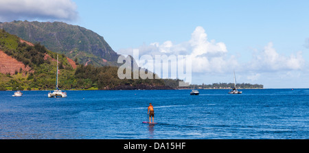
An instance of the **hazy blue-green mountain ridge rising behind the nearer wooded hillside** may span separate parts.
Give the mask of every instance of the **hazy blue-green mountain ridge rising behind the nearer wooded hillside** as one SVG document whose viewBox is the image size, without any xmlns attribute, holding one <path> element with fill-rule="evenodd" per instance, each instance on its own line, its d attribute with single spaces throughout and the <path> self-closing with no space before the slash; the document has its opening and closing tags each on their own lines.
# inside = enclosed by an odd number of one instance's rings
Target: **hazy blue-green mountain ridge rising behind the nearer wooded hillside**
<svg viewBox="0 0 309 153">
<path fill-rule="evenodd" d="M 32 43 L 76 60 L 81 64 L 119 66 L 117 54 L 104 38 L 78 25 L 62 22 L 12 21 L 0 23 L 0 29 Z"/>
</svg>

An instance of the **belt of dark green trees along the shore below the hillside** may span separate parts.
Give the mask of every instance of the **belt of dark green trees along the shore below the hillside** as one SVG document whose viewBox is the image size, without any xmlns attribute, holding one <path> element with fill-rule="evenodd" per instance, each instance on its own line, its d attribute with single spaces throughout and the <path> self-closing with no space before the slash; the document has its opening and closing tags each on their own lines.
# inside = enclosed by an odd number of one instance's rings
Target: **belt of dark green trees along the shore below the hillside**
<svg viewBox="0 0 309 153">
<path fill-rule="evenodd" d="M 56 63 L 54 63 L 54 66 Z M 4 75 L 0 73 L 0 90 L 52 90 L 56 84 L 56 67 L 48 67 L 42 64 L 40 71 L 28 73 L 25 77 L 22 73 L 16 75 Z M 93 65 L 79 65 L 76 70 L 60 69 L 58 86 L 60 89 L 76 90 L 109 90 L 121 85 L 137 86 L 165 86 L 163 80 L 137 80 L 117 77 L 118 67 L 93 67 Z"/>
</svg>

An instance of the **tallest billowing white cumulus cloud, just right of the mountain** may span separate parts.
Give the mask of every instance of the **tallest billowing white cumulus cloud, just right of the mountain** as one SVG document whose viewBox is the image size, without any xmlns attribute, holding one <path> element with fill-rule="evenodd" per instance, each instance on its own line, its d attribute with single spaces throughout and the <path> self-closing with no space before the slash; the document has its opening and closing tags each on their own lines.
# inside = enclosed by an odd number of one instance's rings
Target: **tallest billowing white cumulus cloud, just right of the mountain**
<svg viewBox="0 0 309 153">
<path fill-rule="evenodd" d="M 138 47 L 139 55 L 189 55 L 193 73 L 222 73 L 238 66 L 235 56 L 227 56 L 225 43 L 208 40 L 203 27 L 198 26 L 192 32 L 191 39 L 179 44 L 168 40 L 164 43 L 150 43 Z M 119 54 L 132 55 L 133 49 L 120 49 Z"/>
</svg>

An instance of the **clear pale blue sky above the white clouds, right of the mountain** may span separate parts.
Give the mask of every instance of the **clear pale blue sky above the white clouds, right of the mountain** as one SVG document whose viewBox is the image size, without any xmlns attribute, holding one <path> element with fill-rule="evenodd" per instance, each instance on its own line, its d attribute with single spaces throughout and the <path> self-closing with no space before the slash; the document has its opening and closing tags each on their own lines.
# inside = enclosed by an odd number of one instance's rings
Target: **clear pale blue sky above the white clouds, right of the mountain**
<svg viewBox="0 0 309 153">
<path fill-rule="evenodd" d="M 231 51 L 269 41 L 304 45 L 308 38 L 308 1 L 75 2 L 76 24 L 102 34 L 115 50 L 165 40 L 181 43 L 196 26 L 230 44 Z"/>
</svg>

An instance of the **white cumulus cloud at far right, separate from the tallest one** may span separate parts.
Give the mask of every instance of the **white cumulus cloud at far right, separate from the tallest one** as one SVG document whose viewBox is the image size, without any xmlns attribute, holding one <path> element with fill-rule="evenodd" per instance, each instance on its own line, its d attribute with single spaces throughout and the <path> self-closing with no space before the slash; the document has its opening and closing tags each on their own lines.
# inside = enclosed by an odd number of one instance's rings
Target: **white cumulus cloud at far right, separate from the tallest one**
<svg viewBox="0 0 309 153">
<path fill-rule="evenodd" d="M 247 69 L 255 71 L 280 71 L 280 70 L 299 70 L 304 67 L 305 60 L 302 52 L 289 57 L 278 54 L 273 47 L 273 43 L 268 43 L 262 51 L 257 51 L 253 59 L 247 64 Z"/>
</svg>

